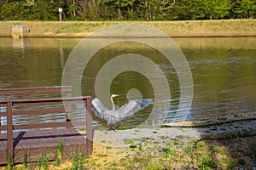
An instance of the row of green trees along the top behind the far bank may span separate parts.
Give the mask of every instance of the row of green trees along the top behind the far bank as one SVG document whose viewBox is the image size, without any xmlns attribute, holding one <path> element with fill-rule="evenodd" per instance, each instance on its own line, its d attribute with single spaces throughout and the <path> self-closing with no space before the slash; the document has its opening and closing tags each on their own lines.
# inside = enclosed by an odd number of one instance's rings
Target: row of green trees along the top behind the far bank
<svg viewBox="0 0 256 170">
<path fill-rule="evenodd" d="M 220 20 L 256 18 L 256 0 L 0 0 L 0 20 Z"/>
</svg>

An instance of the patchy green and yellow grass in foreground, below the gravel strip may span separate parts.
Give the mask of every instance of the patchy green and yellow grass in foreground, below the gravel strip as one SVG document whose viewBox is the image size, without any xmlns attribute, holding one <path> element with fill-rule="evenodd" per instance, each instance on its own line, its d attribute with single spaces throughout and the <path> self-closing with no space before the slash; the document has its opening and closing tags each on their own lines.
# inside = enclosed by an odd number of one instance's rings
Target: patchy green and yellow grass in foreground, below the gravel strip
<svg viewBox="0 0 256 170">
<path fill-rule="evenodd" d="M 113 148 L 95 144 L 92 156 L 73 153 L 60 166 L 55 161 L 45 161 L 42 166 L 38 161 L 16 165 L 15 169 L 253 169 L 252 156 L 256 153 L 255 137 L 197 140 L 178 136 L 124 142 L 130 146 Z"/>
</svg>

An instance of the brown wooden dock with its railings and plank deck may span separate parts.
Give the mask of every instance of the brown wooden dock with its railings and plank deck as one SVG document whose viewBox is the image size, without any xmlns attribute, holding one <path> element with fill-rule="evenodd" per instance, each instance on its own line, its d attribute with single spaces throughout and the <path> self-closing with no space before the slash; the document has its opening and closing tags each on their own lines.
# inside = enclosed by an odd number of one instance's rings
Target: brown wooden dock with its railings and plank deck
<svg viewBox="0 0 256 170">
<path fill-rule="evenodd" d="M 58 141 L 63 141 L 63 158 L 71 157 L 73 152 L 86 155 L 92 153 L 92 116 L 91 97 L 71 97 L 71 87 L 9 88 L 0 89 L 0 95 L 8 94 L 47 94 L 67 93 L 67 97 L 28 98 L 0 100 L 1 117 L 6 124 L 0 123 L 0 165 L 7 163 L 9 157 L 13 163 L 39 161 L 44 156 L 48 161 L 55 160 Z M 86 121 L 73 121 L 71 107 L 76 103 L 86 105 Z M 62 107 L 55 107 L 62 105 Z M 46 107 L 47 106 L 47 107 Z M 27 122 L 15 124 L 14 116 L 43 116 L 65 113 L 64 122 Z M 73 127 L 85 126 L 86 138 Z"/>
</svg>

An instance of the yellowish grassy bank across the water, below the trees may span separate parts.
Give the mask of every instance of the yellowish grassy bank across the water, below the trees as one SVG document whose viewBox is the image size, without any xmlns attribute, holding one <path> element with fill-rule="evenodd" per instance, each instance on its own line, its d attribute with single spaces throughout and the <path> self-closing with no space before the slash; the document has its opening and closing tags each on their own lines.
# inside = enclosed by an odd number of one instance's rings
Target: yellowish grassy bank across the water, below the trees
<svg viewBox="0 0 256 170">
<path fill-rule="evenodd" d="M 189 21 L 1 21 L 0 36 L 10 37 L 15 25 L 29 26 L 29 37 L 85 37 L 105 26 L 137 23 L 153 26 L 170 37 L 256 36 L 256 20 Z"/>
</svg>

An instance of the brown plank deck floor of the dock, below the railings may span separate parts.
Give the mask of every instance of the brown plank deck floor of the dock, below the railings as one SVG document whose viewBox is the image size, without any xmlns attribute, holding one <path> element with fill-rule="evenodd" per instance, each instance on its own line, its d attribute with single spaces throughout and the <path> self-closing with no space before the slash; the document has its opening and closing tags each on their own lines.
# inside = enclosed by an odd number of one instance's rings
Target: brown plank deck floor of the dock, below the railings
<svg viewBox="0 0 256 170">
<path fill-rule="evenodd" d="M 86 138 L 73 128 L 45 129 L 14 133 L 14 162 L 39 161 L 41 156 L 53 161 L 59 139 L 63 140 L 62 157 L 71 157 L 73 152 L 87 154 Z M 6 164 L 7 133 L 0 134 L 0 165 Z"/>
</svg>

